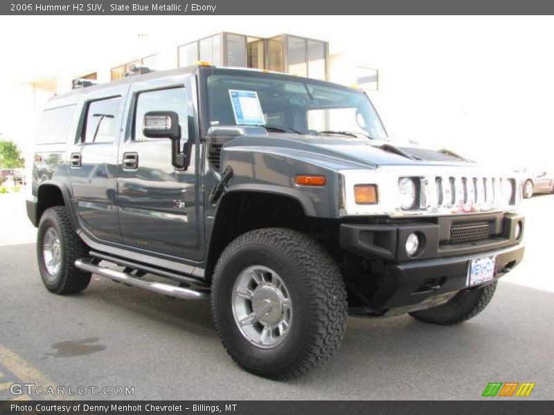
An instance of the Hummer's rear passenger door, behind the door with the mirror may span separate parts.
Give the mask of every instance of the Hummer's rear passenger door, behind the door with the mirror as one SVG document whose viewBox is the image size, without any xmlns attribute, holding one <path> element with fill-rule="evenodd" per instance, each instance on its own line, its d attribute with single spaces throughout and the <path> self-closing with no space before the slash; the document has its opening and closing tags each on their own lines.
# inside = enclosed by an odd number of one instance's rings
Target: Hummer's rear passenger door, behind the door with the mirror
<svg viewBox="0 0 554 415">
<path fill-rule="evenodd" d="M 116 173 L 128 90 L 127 84 L 83 94 L 69 160 L 73 202 L 82 227 L 104 241 L 121 241 Z"/>
</svg>

